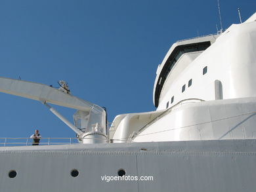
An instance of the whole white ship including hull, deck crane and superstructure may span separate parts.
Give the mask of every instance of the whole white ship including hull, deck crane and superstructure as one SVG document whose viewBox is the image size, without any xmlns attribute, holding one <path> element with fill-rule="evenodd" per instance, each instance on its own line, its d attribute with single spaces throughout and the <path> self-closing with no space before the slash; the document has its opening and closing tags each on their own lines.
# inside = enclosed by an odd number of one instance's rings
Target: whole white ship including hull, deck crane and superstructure
<svg viewBox="0 0 256 192">
<path fill-rule="evenodd" d="M 77 144 L 0 147 L 0 191 L 255 191 L 256 13 L 174 43 L 156 66 L 156 111 L 117 115 L 60 88 L 0 77 L 41 102 Z M 77 111 L 71 123 L 52 106 Z"/>
</svg>

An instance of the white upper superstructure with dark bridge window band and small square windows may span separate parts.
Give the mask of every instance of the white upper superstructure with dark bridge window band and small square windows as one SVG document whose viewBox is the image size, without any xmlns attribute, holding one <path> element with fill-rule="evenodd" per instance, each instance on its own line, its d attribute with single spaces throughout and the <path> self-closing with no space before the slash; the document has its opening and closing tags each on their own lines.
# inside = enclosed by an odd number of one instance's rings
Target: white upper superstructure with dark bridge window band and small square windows
<svg viewBox="0 0 256 192">
<path fill-rule="evenodd" d="M 217 35 L 173 44 L 158 66 L 153 100 L 158 110 L 182 100 L 256 96 L 256 16 Z"/>
</svg>

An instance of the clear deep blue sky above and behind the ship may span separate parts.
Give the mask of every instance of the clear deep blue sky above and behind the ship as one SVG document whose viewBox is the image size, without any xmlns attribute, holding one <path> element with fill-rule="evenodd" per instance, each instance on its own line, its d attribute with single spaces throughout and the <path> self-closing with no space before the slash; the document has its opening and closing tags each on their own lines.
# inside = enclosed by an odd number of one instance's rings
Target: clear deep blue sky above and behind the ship
<svg viewBox="0 0 256 192">
<path fill-rule="evenodd" d="M 223 28 L 255 0 L 219 0 Z M 154 111 L 156 68 L 175 41 L 216 33 L 217 0 L 0 1 L 0 76 L 57 86 L 121 113 Z M 74 137 L 39 102 L 0 94 L 0 137 Z M 56 107 L 70 121 L 73 109 Z"/>
</svg>

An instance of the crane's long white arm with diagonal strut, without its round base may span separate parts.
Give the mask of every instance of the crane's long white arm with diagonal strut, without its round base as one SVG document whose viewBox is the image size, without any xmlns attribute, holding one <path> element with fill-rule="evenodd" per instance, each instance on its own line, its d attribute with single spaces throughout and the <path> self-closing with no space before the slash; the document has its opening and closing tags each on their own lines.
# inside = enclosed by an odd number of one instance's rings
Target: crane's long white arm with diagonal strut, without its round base
<svg viewBox="0 0 256 192">
<path fill-rule="evenodd" d="M 29 81 L 22 81 L 17 79 L 9 79 L 0 77 L 0 92 L 28 98 L 31 100 L 37 100 L 43 104 L 55 104 L 58 106 L 69 107 L 77 109 L 78 111 L 85 111 L 89 114 L 89 119 L 85 120 L 84 124 L 87 128 L 92 128 L 95 125 L 99 125 L 103 132 L 106 133 L 106 111 L 91 102 L 81 100 L 72 94 L 63 92 L 48 85 L 41 83 L 33 83 Z M 75 126 L 71 125 L 64 117 L 62 117 L 56 110 L 49 105 L 46 105 L 49 109 L 59 117 L 66 125 L 70 126 L 72 130 L 81 134 L 79 128 L 75 129 Z"/>
</svg>

